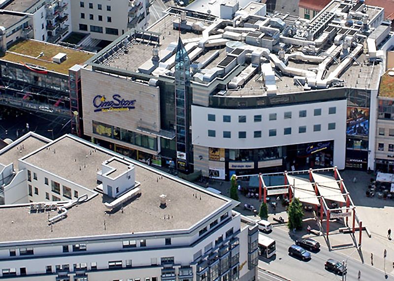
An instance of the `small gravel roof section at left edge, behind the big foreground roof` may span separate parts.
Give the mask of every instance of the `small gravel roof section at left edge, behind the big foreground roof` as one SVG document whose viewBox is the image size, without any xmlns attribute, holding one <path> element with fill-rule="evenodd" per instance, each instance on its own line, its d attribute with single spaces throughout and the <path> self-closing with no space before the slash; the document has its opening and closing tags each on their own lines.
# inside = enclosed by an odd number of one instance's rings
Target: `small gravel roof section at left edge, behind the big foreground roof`
<svg viewBox="0 0 394 281">
<path fill-rule="evenodd" d="M 20 137 L 19 140 L 9 144 L 0 150 L 0 163 L 3 165 L 14 164 L 14 169 L 18 170 L 18 159 L 31 154 L 49 142 L 40 139 L 32 134 Z"/>
</svg>

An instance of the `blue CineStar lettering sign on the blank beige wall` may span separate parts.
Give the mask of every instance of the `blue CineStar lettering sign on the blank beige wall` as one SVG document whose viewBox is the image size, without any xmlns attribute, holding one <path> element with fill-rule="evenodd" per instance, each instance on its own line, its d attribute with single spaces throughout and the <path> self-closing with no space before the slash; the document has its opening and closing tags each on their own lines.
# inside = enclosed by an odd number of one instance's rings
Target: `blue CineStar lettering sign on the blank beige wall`
<svg viewBox="0 0 394 281">
<path fill-rule="evenodd" d="M 120 94 L 112 95 L 112 99 L 107 99 L 105 95 L 96 95 L 93 98 L 95 112 L 127 111 L 135 108 L 135 99 L 124 99 Z"/>
</svg>

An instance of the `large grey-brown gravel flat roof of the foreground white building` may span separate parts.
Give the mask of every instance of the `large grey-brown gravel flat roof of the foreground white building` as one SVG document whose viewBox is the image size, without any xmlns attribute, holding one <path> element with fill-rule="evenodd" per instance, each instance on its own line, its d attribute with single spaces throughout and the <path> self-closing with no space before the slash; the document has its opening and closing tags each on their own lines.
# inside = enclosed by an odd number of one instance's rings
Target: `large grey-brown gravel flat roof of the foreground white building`
<svg viewBox="0 0 394 281">
<path fill-rule="evenodd" d="M 97 185 L 96 172 L 100 169 L 102 160 L 116 156 L 102 148 L 97 148 L 91 156 L 90 152 L 94 148 L 88 142 L 67 135 L 26 157 L 25 161 L 92 187 L 93 181 Z M 56 153 L 53 152 L 55 149 Z M 86 155 L 87 167 L 79 171 L 78 164 Z M 78 157 L 77 164 L 74 157 Z M 105 213 L 108 209 L 103 202 L 113 199 L 98 194 L 69 209 L 65 219 L 53 224 L 51 232 L 48 212 L 30 214 L 29 207 L 0 208 L 0 224 L 6 226 L 0 229 L 0 242 L 188 229 L 230 202 L 230 199 L 209 193 L 201 187 L 139 162 L 127 160 L 134 165 L 135 181 L 141 183 L 138 187 L 141 188 L 142 195 L 125 205 L 123 212 L 108 216 Z M 160 208 L 161 194 L 167 196 L 164 209 Z M 56 214 L 56 211 L 50 212 L 49 216 L 54 217 Z"/>
</svg>

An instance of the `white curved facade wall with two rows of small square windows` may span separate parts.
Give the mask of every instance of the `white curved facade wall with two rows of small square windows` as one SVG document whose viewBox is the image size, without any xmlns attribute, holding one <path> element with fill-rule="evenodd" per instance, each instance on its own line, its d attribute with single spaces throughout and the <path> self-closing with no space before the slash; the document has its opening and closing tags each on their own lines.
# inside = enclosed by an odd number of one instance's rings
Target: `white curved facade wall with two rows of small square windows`
<svg viewBox="0 0 394 281">
<path fill-rule="evenodd" d="M 335 114 L 328 114 L 329 107 L 336 107 Z M 321 109 L 320 116 L 314 116 L 314 109 Z M 306 110 L 307 116 L 299 117 L 299 111 Z M 292 112 L 291 119 L 284 119 L 285 112 Z M 269 121 L 269 114 L 276 113 L 276 120 Z M 208 121 L 208 114 L 214 114 L 216 121 Z M 230 115 L 231 122 L 224 123 L 223 116 Z M 245 115 L 246 123 L 238 123 L 238 116 Z M 262 122 L 254 122 L 255 115 L 262 115 Z M 335 129 L 328 130 L 328 123 L 335 123 Z M 320 124 L 320 131 L 313 131 L 313 125 Z M 298 133 L 299 126 L 306 126 L 306 133 Z M 292 133 L 284 135 L 284 128 L 291 127 Z M 276 129 L 276 136 L 268 136 L 270 129 Z M 216 137 L 209 137 L 208 130 L 215 130 Z M 254 138 L 254 131 L 262 131 L 261 138 Z M 223 138 L 223 131 L 230 131 L 231 138 Z M 238 138 L 239 131 L 246 131 L 246 138 Z M 253 149 L 319 141 L 334 141 L 334 165 L 345 167 L 346 150 L 346 100 L 334 100 L 307 104 L 292 104 L 271 108 L 229 109 L 192 105 L 193 145 L 228 149 Z"/>
</svg>

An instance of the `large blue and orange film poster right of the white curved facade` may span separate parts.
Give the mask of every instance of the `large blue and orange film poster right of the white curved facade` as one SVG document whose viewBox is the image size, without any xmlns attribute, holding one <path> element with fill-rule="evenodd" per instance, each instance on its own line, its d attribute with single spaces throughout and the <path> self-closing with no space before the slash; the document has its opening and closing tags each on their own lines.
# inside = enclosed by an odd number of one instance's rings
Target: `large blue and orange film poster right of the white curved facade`
<svg viewBox="0 0 394 281">
<path fill-rule="evenodd" d="M 369 108 L 348 106 L 346 134 L 367 136 L 369 133 Z"/>
</svg>

